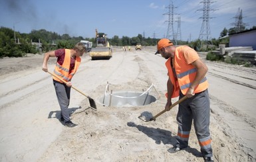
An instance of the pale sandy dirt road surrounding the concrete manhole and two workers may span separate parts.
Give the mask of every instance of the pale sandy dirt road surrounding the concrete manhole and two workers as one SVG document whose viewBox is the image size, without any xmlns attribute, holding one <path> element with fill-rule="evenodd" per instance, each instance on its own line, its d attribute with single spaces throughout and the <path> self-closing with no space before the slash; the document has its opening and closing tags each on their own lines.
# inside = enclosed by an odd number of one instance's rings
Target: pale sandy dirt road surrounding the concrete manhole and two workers
<svg viewBox="0 0 256 162">
<path fill-rule="evenodd" d="M 203 161 L 194 130 L 190 147 L 167 151 L 175 143 L 178 106 L 155 122 L 138 118 L 146 111 L 157 114 L 166 104 L 166 60 L 154 51 L 115 48 L 110 60 L 83 56 L 72 84 L 90 95 L 98 110 L 88 108 L 88 99 L 72 90 L 70 114 L 76 128 L 58 119 L 53 81 L 41 70 L 43 56 L 1 59 L 0 161 Z M 204 61 L 215 161 L 255 161 L 256 69 Z M 49 63 L 53 70 L 55 59 Z M 142 91 L 153 83 L 160 99 L 146 106 L 103 106 L 99 100 L 107 82 L 113 91 Z"/>
</svg>

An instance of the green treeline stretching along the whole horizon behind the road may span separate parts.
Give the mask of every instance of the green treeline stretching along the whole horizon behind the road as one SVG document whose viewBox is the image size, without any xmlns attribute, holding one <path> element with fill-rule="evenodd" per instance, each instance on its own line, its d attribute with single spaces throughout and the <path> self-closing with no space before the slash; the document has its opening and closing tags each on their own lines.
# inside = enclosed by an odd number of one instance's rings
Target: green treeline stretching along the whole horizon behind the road
<svg viewBox="0 0 256 162">
<path fill-rule="evenodd" d="M 255 28 L 255 26 L 253 26 Z M 232 32 L 232 28 L 227 30 L 226 28 L 220 34 L 225 36 Z M 25 54 L 37 54 L 47 52 L 49 50 L 56 50 L 59 48 L 73 48 L 74 44 L 80 42 L 80 40 L 88 40 L 93 42 L 95 46 L 95 38 L 83 38 L 82 36 L 71 37 L 68 34 L 60 35 L 57 32 L 49 32 L 45 29 L 32 30 L 29 34 L 15 32 L 11 28 L 1 27 L 0 28 L 0 58 L 3 57 L 22 57 Z M 110 45 L 112 46 L 135 46 L 141 44 L 142 46 L 156 46 L 158 38 L 144 38 L 142 34 L 134 36 L 132 38 L 128 36 L 113 36 L 108 38 Z M 219 44 L 228 44 L 229 38 L 215 39 L 213 38 L 209 42 L 204 42 L 207 46 L 202 46 L 201 40 L 188 41 L 177 41 L 175 44 L 187 44 L 193 49 L 199 51 L 207 51 L 214 49 Z M 40 43 L 40 44 L 39 44 Z M 211 44 L 208 46 L 208 44 Z"/>
</svg>

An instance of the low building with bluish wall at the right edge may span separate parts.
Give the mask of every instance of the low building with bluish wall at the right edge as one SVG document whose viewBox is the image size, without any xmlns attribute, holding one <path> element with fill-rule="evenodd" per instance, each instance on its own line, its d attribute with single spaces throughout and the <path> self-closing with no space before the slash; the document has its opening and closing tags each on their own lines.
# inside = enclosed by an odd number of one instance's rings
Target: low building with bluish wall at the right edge
<svg viewBox="0 0 256 162">
<path fill-rule="evenodd" d="M 256 28 L 229 34 L 229 47 L 251 46 L 256 50 Z"/>
</svg>

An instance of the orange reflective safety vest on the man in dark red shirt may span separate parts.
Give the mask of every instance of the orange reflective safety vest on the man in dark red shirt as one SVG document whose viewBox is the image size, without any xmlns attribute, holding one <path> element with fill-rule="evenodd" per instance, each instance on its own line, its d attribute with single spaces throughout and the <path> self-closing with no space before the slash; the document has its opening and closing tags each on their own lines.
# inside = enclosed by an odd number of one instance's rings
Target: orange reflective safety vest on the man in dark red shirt
<svg viewBox="0 0 256 162">
<path fill-rule="evenodd" d="M 76 71 L 80 65 L 80 62 L 81 62 L 81 58 L 76 56 L 76 61 L 74 63 L 74 69 L 72 69 L 71 72 L 69 73 L 70 60 L 71 60 L 70 50 L 65 49 L 65 58 L 63 61 L 63 65 L 60 65 L 57 61 L 56 65 L 55 65 L 55 70 L 53 71 L 55 73 L 55 75 L 63 78 L 64 81 L 71 81 L 72 77 L 74 76 L 74 73 L 76 73 Z M 61 81 L 57 77 L 53 76 L 53 79 L 55 79 L 55 81 L 59 81 L 59 82 L 63 83 L 63 81 Z"/>
</svg>

